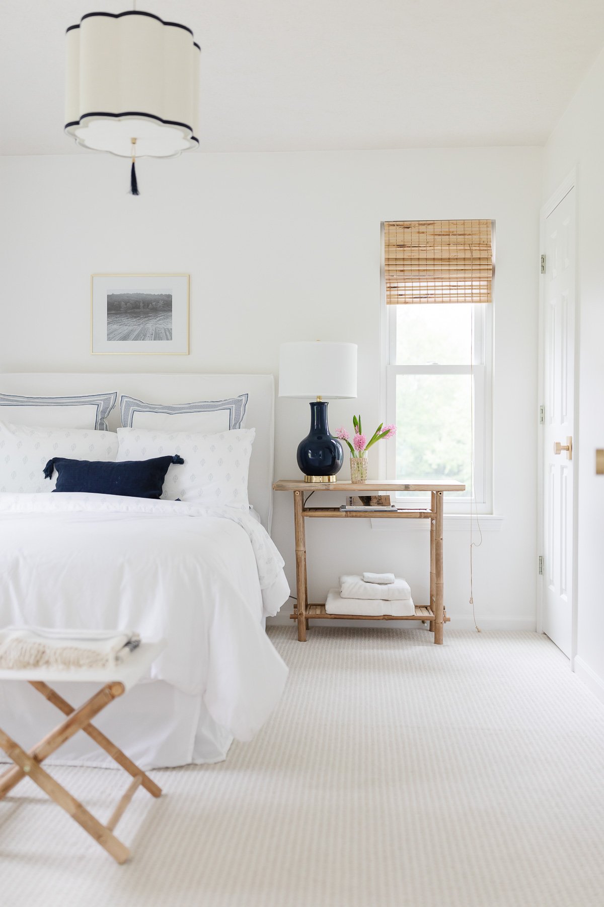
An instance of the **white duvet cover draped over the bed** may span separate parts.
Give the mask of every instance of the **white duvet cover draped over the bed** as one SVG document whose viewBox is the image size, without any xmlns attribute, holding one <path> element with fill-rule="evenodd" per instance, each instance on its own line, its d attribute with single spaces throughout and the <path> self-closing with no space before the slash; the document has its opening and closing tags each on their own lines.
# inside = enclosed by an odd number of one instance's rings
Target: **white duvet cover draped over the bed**
<svg viewBox="0 0 604 907">
<path fill-rule="evenodd" d="M 163 637 L 152 677 L 198 697 L 225 736 L 251 739 L 281 696 L 287 668 L 261 617 L 288 594 L 279 552 L 245 513 L 104 494 L 0 494 L 0 626 Z M 197 730 L 187 730 L 191 740 Z"/>
</svg>

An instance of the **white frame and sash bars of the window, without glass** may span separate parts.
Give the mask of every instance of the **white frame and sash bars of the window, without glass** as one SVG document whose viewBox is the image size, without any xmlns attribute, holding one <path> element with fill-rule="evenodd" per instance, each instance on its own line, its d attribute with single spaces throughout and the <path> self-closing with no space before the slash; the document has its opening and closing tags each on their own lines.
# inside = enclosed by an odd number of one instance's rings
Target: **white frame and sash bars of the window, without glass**
<svg viewBox="0 0 604 907">
<path fill-rule="evenodd" d="M 383 232 L 383 227 L 382 227 Z M 383 244 L 382 244 L 383 249 Z M 383 261 L 383 251 L 382 251 Z M 439 303 L 435 303 L 439 305 Z M 444 305 L 444 304 L 443 304 Z M 470 305 L 470 303 L 468 303 Z M 386 305 L 382 268 L 382 405 L 387 423 L 397 421 L 397 375 L 474 375 L 474 495 L 471 498 L 445 497 L 447 513 L 493 513 L 493 304 L 471 304 L 474 317 L 474 363 L 472 366 L 398 366 L 397 306 Z M 396 475 L 396 444 L 380 443 L 379 476 Z M 421 476 L 409 476 L 421 478 Z M 408 509 L 429 507 L 428 498 L 397 495 L 398 506 Z"/>
</svg>

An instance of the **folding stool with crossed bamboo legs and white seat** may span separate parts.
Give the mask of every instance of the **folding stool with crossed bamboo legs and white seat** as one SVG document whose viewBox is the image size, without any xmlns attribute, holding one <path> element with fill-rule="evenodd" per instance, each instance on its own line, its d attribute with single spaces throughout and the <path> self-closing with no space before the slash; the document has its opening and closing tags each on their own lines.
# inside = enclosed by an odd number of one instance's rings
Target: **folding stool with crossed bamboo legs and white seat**
<svg viewBox="0 0 604 907">
<path fill-rule="evenodd" d="M 139 681 L 163 648 L 163 642 L 142 643 L 139 649 L 136 649 L 122 665 L 117 668 L 103 670 L 51 671 L 45 668 L 0 670 L 0 680 L 26 681 L 66 716 L 60 725 L 55 727 L 50 734 L 44 736 L 29 752 L 25 752 L 21 746 L 15 743 L 0 728 L 0 748 L 14 762 L 14 766 L 5 771 L 3 775 L 0 775 L 0 801 L 4 799 L 15 785 L 23 781 L 25 775 L 28 775 L 34 784 L 41 787 L 45 794 L 57 805 L 61 806 L 66 813 L 70 814 L 72 819 L 81 825 L 84 831 L 88 832 L 98 844 L 101 844 L 101 847 L 104 847 L 114 860 L 118 863 L 125 863 L 129 858 L 130 852 L 128 847 L 122 844 L 119 838 L 113 834 L 115 826 L 120 821 L 139 786 L 144 787 L 151 796 L 155 797 L 161 796 L 161 788 L 154 781 L 151 781 L 149 775 L 146 775 L 139 766 L 135 765 L 125 753 L 122 753 L 118 746 L 111 743 L 110 739 L 102 734 L 98 727 L 92 725 L 91 721 L 113 699 L 123 696 L 129 688 Z M 49 686 L 49 683 L 60 681 L 68 681 L 69 683 L 101 683 L 103 686 L 79 708 L 73 708 Z M 129 787 L 121 796 L 109 821 L 105 824 L 102 824 L 89 813 L 69 791 L 54 780 L 52 775 L 44 771 L 41 765 L 44 759 L 52 756 L 62 744 L 66 743 L 78 731 L 83 731 L 84 734 L 90 736 L 132 778 Z"/>
</svg>

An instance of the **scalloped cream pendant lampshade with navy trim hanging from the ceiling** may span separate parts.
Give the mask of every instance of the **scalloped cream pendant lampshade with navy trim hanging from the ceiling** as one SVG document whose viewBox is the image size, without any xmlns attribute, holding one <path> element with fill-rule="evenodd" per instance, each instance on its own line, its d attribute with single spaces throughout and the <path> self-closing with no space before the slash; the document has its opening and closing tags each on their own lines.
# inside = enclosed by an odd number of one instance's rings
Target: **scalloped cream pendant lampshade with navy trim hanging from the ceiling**
<svg viewBox="0 0 604 907">
<path fill-rule="evenodd" d="M 67 29 L 65 132 L 122 157 L 197 148 L 199 45 L 187 26 L 130 10 Z"/>
</svg>

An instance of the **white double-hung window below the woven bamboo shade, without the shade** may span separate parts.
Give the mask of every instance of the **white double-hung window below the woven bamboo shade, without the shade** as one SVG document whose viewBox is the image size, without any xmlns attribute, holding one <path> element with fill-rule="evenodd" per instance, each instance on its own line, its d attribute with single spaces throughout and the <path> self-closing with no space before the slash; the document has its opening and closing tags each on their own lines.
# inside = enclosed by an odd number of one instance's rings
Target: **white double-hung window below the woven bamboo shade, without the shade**
<svg viewBox="0 0 604 907">
<path fill-rule="evenodd" d="M 436 285 L 436 293 L 447 299 L 445 304 L 422 301 L 385 306 L 387 421 L 397 425 L 397 436 L 394 443 L 384 444 L 382 466 L 398 479 L 457 479 L 465 483 L 465 492 L 446 495 L 448 512 L 468 512 L 470 502 L 478 512 L 491 512 L 492 306 L 448 301 L 464 298 L 458 278 L 457 274 L 454 292 L 448 276 L 430 284 L 431 297 Z M 422 279 L 424 293 L 425 274 Z M 390 292 L 392 283 L 390 279 Z M 399 260 L 395 291 L 408 297 L 412 289 L 402 284 Z M 388 273 L 385 285 L 386 293 Z M 490 284 L 488 293 L 490 298 Z M 468 296 L 472 298 L 472 292 Z M 398 502 L 423 503 L 419 494 L 410 492 L 400 493 Z"/>
</svg>

